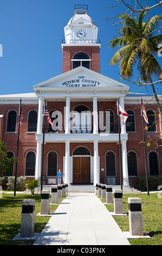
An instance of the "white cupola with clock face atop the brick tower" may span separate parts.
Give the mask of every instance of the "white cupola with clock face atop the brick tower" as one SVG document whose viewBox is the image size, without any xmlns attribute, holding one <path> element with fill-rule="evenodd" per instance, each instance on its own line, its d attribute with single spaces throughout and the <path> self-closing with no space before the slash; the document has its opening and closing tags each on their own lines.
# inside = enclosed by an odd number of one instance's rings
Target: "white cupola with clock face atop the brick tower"
<svg viewBox="0 0 162 256">
<path fill-rule="evenodd" d="M 98 43 L 98 27 L 88 16 L 88 5 L 75 4 L 74 16 L 64 27 L 66 44 L 96 44 Z"/>
</svg>

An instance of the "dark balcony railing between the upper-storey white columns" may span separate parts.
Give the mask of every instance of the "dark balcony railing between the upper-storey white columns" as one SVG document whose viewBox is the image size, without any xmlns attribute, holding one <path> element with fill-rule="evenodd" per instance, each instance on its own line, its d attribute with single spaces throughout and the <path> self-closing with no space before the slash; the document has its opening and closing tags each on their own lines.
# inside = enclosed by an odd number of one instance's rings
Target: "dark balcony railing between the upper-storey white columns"
<svg viewBox="0 0 162 256">
<path fill-rule="evenodd" d="M 53 130 L 53 128 L 49 125 L 44 126 L 44 132 L 45 133 L 65 133 L 65 126 L 62 125 L 61 127 L 57 126 L 56 130 Z M 121 131 L 121 129 L 120 129 Z M 43 132 L 43 127 L 42 127 Z M 119 127 L 118 125 L 110 125 L 109 130 L 106 130 L 105 126 L 98 126 L 98 132 L 99 133 L 119 133 Z M 80 134 L 80 133 L 93 133 L 93 125 L 73 125 L 70 126 L 70 133 L 73 134 Z"/>
</svg>

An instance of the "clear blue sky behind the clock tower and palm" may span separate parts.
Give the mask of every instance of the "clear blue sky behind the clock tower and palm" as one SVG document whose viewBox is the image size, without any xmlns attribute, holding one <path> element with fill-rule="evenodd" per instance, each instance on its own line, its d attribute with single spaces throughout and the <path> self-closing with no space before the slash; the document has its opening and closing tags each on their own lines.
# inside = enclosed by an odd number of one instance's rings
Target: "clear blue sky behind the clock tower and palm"
<svg viewBox="0 0 162 256">
<path fill-rule="evenodd" d="M 154 2 L 147 1 L 152 5 Z M 110 66 L 114 51 L 108 42 L 116 31 L 114 20 L 103 21 L 125 11 L 115 0 L 87 0 L 88 15 L 99 27 L 98 39 L 101 40 L 101 74 L 120 81 L 119 66 Z M 74 5 L 81 1 L 59 0 L 1 0 L 0 8 L 0 44 L 3 57 L 0 57 L 0 95 L 32 93 L 33 86 L 62 73 L 61 40 L 64 39 L 64 26 L 74 15 Z M 161 14 L 159 8 L 155 9 Z M 155 13 L 157 13 L 155 12 Z M 162 57 L 157 57 L 160 65 Z M 134 79 L 138 79 L 134 71 Z M 139 87 L 131 86 L 130 92 L 137 92 Z M 152 93 L 147 88 L 147 93 Z M 146 93 L 146 90 L 142 90 Z M 159 89 L 162 94 L 162 89 Z"/>
</svg>

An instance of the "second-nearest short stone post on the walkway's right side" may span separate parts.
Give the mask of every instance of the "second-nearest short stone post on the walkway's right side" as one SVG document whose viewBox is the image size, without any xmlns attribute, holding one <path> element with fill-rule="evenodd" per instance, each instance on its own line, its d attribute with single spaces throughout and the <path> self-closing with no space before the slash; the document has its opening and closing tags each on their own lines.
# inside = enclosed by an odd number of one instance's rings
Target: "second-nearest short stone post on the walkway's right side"
<svg viewBox="0 0 162 256">
<path fill-rule="evenodd" d="M 123 214 L 122 190 L 114 190 L 114 213 Z"/>
</svg>

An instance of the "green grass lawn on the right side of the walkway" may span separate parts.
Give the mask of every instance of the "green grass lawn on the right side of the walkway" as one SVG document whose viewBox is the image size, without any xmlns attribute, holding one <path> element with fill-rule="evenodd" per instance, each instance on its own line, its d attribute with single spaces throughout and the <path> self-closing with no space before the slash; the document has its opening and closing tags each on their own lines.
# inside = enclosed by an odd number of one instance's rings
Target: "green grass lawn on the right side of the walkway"
<svg viewBox="0 0 162 256">
<path fill-rule="evenodd" d="M 130 239 L 131 245 L 162 245 L 162 198 L 158 198 L 157 193 L 137 193 L 137 194 L 123 194 L 123 211 L 127 216 L 113 216 L 116 223 L 122 231 L 129 231 L 128 220 L 128 198 L 138 197 L 141 198 L 142 204 L 142 219 L 144 231 L 151 236 L 151 239 Z M 101 197 L 99 197 L 101 198 Z M 106 199 L 101 199 L 103 203 L 106 203 Z M 114 212 L 114 205 L 105 204 L 106 208 L 110 212 Z"/>
</svg>

